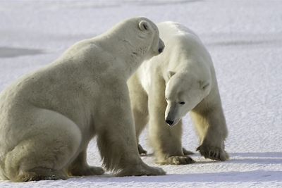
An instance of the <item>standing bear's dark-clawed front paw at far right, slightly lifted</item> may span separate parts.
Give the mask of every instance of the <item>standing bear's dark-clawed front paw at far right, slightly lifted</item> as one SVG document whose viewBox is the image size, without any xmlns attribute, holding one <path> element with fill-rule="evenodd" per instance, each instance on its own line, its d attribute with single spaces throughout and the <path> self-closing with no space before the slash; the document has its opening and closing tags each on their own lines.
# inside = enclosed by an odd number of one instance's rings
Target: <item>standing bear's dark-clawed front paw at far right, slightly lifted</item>
<svg viewBox="0 0 282 188">
<path fill-rule="evenodd" d="M 216 146 L 202 144 L 196 151 L 200 151 L 204 158 L 210 158 L 216 161 L 226 161 L 229 158 L 228 153 L 224 149 Z"/>
</svg>

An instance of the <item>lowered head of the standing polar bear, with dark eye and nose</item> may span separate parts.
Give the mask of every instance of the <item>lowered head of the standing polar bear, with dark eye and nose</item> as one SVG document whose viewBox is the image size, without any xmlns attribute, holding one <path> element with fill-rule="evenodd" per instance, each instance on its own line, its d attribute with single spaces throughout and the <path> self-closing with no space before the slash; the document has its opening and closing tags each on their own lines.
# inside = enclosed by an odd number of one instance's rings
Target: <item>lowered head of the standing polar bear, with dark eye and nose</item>
<svg viewBox="0 0 282 188">
<path fill-rule="evenodd" d="M 195 73 L 169 71 L 168 78 L 165 91 L 167 102 L 165 120 L 172 126 L 209 94 L 211 83 Z"/>
</svg>

